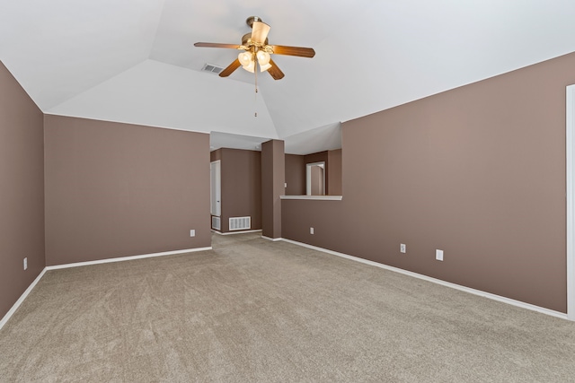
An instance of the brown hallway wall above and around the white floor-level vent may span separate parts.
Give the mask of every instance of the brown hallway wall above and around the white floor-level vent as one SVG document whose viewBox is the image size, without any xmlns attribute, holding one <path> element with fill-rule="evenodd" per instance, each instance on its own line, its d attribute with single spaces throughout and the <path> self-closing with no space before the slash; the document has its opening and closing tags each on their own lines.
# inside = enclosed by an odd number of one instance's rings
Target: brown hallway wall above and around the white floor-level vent
<svg viewBox="0 0 575 383">
<path fill-rule="evenodd" d="M 218 152 L 222 161 L 222 232 L 229 231 L 230 217 L 251 216 L 252 230 L 261 229 L 261 152 L 227 148 Z"/>
</svg>

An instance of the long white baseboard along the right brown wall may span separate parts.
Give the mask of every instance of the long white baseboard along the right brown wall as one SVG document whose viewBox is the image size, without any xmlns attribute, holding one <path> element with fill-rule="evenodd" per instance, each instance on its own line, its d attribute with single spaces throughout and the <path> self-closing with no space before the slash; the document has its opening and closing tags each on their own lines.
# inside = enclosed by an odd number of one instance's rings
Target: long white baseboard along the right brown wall
<svg viewBox="0 0 575 383">
<path fill-rule="evenodd" d="M 469 293 L 472 293 L 473 295 L 479 295 L 480 297 L 489 298 L 491 300 L 498 300 L 498 301 L 503 302 L 503 303 L 508 303 L 510 305 L 520 307 L 522 309 L 530 309 L 533 311 L 537 311 L 537 312 L 540 312 L 543 314 L 550 315 L 552 317 L 567 319 L 566 314 L 559 312 L 559 311 L 554 311 L 553 309 L 545 309 L 545 308 L 535 306 L 535 305 L 532 305 L 532 304 L 529 304 L 526 302 L 522 302 L 520 300 L 512 300 L 512 299 L 509 299 L 506 297 L 501 297 L 500 295 L 491 294 L 491 292 L 482 292 L 481 290 L 475 290 L 475 289 L 472 289 L 470 287 L 462 286 L 460 284 L 449 283 L 446 281 L 442 281 L 440 279 L 432 278 L 432 277 L 427 276 L 427 275 L 417 274 L 417 273 L 413 273 L 411 271 L 403 270 L 403 269 L 398 268 L 398 267 L 394 267 L 394 266 L 390 266 L 390 265 L 384 265 L 384 264 L 380 264 L 380 263 L 370 261 L 367 259 L 349 256 L 347 254 L 338 253 L 337 251 L 328 250 L 327 248 L 318 248 L 316 246 L 308 245 L 308 244 L 303 243 L 303 242 L 297 242 L 296 240 L 292 240 L 292 239 L 282 239 L 282 240 L 289 242 L 289 243 L 293 243 L 294 245 L 302 246 L 304 248 L 312 248 L 314 250 L 323 251 L 324 253 L 331 254 L 333 256 L 351 259 L 352 261 L 361 262 L 362 264 L 372 265 L 372 266 L 376 266 L 379 268 L 383 268 L 385 270 L 393 271 L 395 273 L 409 275 L 409 276 L 419 278 L 419 279 L 422 279 L 424 281 L 428 281 L 431 283 L 438 283 L 438 284 L 441 284 L 443 286 L 451 287 L 453 289 L 456 289 L 456 290 L 459 290 L 462 292 L 469 292 Z"/>
</svg>

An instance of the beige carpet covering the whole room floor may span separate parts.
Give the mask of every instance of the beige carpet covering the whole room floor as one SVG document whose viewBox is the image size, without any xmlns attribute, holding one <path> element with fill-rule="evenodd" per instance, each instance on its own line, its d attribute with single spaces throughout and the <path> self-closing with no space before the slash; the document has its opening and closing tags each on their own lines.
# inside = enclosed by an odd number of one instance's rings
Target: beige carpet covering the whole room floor
<svg viewBox="0 0 575 383">
<path fill-rule="evenodd" d="M 47 272 L 0 381 L 575 381 L 573 322 L 259 236 Z"/>
</svg>

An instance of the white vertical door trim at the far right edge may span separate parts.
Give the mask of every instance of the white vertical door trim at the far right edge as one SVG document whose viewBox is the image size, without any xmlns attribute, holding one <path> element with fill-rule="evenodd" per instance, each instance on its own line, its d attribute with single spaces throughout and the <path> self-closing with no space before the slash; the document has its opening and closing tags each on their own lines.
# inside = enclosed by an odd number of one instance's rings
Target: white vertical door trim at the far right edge
<svg viewBox="0 0 575 383">
<path fill-rule="evenodd" d="M 565 170 L 567 208 L 567 318 L 575 321 L 575 85 L 567 87 L 566 126 L 565 126 Z"/>
</svg>

